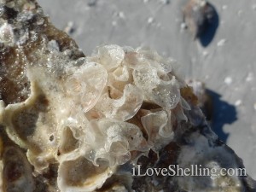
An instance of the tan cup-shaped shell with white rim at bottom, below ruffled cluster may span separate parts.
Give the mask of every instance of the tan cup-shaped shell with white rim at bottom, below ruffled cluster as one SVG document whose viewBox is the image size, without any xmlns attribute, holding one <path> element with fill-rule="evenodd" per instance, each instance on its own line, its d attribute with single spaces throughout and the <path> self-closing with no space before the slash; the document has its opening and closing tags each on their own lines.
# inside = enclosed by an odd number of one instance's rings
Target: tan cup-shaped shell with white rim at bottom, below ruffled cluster
<svg viewBox="0 0 256 192">
<path fill-rule="evenodd" d="M 100 189 L 114 172 L 106 162 L 94 166 L 90 160 L 78 157 L 75 160 L 61 161 L 58 172 L 58 186 L 64 192 L 90 192 Z"/>
</svg>

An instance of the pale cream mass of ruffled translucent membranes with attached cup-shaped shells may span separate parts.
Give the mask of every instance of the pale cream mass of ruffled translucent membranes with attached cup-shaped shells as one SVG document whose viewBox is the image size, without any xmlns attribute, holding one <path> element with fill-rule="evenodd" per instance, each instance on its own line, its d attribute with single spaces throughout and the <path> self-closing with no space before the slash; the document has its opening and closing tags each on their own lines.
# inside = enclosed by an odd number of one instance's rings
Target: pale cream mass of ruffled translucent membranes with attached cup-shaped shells
<svg viewBox="0 0 256 192">
<path fill-rule="evenodd" d="M 29 66 L 31 96 L 3 110 L 9 137 L 27 148 L 37 172 L 60 163 L 61 191 L 97 189 L 116 166 L 136 163 L 150 148 L 158 153 L 172 141 L 173 122 L 185 119 L 189 104 L 172 62 L 150 49 L 105 45 L 66 66 Z M 145 103 L 154 110 L 143 109 Z M 68 170 L 77 166 L 81 174 L 91 167 L 90 174 L 74 177 Z"/>
</svg>

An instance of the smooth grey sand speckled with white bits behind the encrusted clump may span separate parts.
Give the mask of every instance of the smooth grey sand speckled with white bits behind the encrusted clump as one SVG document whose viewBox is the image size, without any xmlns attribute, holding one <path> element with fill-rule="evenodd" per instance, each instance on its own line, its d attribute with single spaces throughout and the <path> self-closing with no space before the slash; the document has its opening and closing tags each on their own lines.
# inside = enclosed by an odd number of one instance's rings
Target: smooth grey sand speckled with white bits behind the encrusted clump
<svg viewBox="0 0 256 192">
<path fill-rule="evenodd" d="M 156 49 L 182 64 L 186 79 L 207 84 L 213 130 L 256 179 L 256 1 L 215 0 L 218 29 L 209 44 L 181 27 L 185 0 L 39 0 L 52 22 L 66 28 L 84 53 L 99 44 Z"/>
</svg>

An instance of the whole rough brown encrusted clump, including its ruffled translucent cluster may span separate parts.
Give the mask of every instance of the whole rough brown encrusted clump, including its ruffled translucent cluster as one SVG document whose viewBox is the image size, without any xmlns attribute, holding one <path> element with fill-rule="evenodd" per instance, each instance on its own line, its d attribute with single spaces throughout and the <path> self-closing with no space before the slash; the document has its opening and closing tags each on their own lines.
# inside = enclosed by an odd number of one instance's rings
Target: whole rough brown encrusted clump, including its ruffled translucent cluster
<svg viewBox="0 0 256 192">
<path fill-rule="evenodd" d="M 117 45 L 85 57 L 38 3 L 2 0 L 0 10 L 3 191 L 255 191 L 248 176 L 132 177 L 244 167 L 172 59 Z"/>
</svg>

